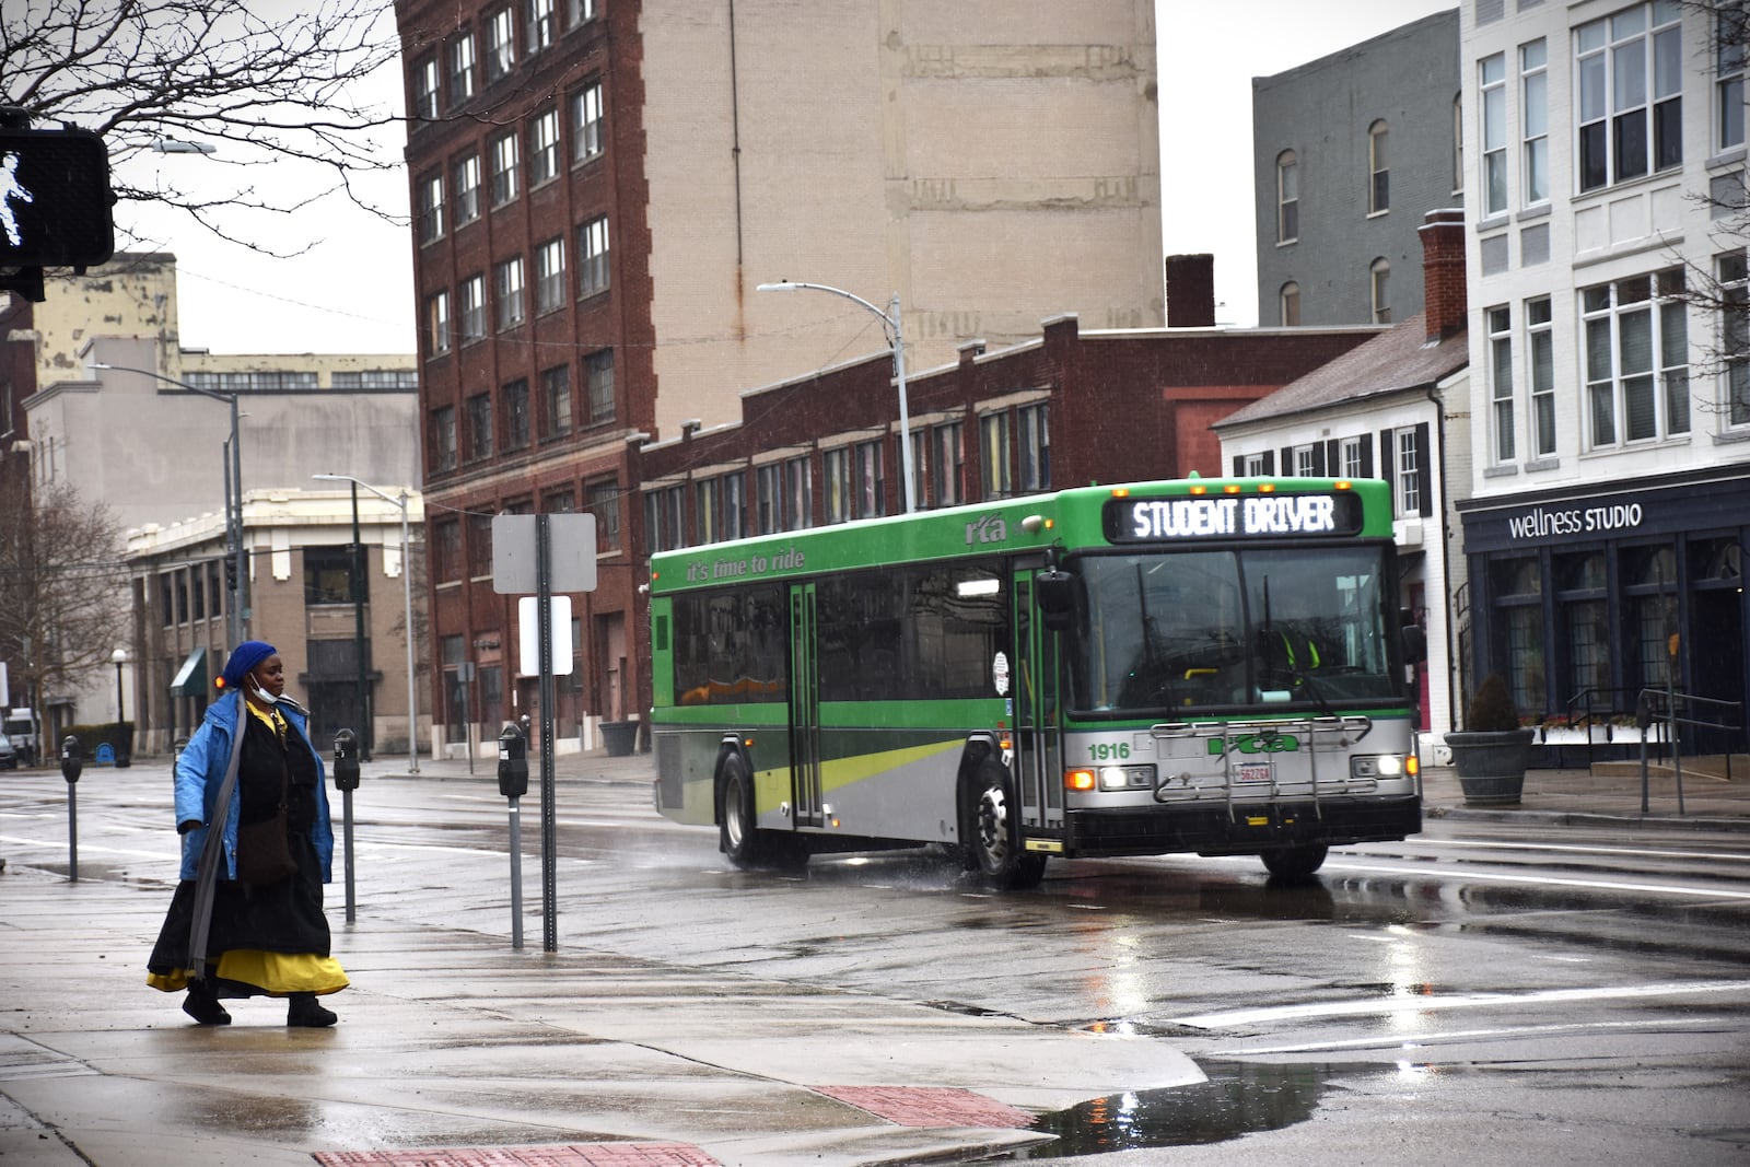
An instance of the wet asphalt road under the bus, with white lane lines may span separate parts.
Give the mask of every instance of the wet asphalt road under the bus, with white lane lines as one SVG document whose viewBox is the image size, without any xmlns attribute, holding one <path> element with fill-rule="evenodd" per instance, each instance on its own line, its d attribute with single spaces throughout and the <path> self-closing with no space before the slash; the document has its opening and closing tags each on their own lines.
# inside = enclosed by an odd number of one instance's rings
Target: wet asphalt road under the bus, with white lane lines
<svg viewBox="0 0 1750 1167">
<path fill-rule="evenodd" d="M 161 852 L 168 898 L 168 779 L 105 777 L 80 786 L 80 836 L 103 840 L 88 878 L 119 863 L 149 878 Z M 509 943 L 506 801 L 485 772 L 374 780 L 355 815 L 357 913 Z M 522 817 L 539 950 L 536 796 Z M 14 863 L 65 864 L 65 835 L 38 835 L 40 854 L 0 835 Z M 565 784 L 556 836 L 562 950 L 1141 1034 L 1209 1076 L 1054 1116 L 1062 1143 L 1034 1158 L 1750 1160 L 1750 835 L 1430 821 L 1297 887 L 1253 859 L 1180 856 L 1054 863 L 1024 894 L 928 852 L 732 871 L 712 833 L 625 784 Z"/>
</svg>

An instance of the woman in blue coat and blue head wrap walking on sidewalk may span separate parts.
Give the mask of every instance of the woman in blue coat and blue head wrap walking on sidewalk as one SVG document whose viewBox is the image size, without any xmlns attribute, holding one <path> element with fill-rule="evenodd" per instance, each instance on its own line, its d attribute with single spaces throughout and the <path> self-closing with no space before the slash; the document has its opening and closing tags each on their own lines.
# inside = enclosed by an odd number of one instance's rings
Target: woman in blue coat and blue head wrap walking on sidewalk
<svg viewBox="0 0 1750 1167">
<path fill-rule="evenodd" d="M 310 717 L 285 696 L 271 644 L 231 651 L 222 693 L 177 759 L 182 875 L 147 983 L 187 989 L 182 1011 L 229 1025 L 220 997 L 287 997 L 287 1025 L 332 1025 L 318 996 L 346 987 L 329 955 L 322 884 L 334 829 Z"/>
</svg>

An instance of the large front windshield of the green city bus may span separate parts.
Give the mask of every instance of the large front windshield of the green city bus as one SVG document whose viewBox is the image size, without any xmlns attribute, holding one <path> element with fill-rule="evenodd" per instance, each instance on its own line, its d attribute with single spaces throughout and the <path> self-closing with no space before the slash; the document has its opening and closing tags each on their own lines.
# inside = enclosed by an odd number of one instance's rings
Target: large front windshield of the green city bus
<svg viewBox="0 0 1750 1167">
<path fill-rule="evenodd" d="M 1386 567 L 1377 546 L 1082 556 L 1074 705 L 1178 717 L 1398 700 Z"/>
</svg>

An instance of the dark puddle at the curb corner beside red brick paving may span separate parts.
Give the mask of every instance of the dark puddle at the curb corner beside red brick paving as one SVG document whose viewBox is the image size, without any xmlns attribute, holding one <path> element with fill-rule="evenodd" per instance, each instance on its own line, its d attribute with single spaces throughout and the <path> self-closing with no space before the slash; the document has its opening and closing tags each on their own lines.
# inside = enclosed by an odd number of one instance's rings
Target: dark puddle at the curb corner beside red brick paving
<svg viewBox="0 0 1750 1167">
<path fill-rule="evenodd" d="M 1110 1094 L 1041 1115 L 1032 1129 L 1054 1134 L 1057 1141 L 1013 1151 L 999 1162 L 1225 1143 L 1260 1130 L 1281 1130 L 1312 1116 L 1339 1067 L 1204 1062 L 1199 1069 L 1209 1081 Z"/>
</svg>

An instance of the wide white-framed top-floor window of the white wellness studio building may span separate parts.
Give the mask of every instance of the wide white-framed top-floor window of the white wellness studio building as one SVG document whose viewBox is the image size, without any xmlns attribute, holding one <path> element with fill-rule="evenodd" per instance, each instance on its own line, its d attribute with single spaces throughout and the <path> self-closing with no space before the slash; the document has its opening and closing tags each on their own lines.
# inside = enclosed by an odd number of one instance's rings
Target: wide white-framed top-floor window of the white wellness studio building
<svg viewBox="0 0 1750 1167">
<path fill-rule="evenodd" d="M 1582 191 L 1684 161 L 1680 17 L 1657 0 L 1575 30 Z"/>
</svg>

